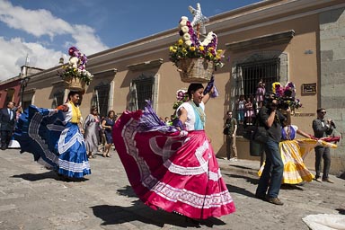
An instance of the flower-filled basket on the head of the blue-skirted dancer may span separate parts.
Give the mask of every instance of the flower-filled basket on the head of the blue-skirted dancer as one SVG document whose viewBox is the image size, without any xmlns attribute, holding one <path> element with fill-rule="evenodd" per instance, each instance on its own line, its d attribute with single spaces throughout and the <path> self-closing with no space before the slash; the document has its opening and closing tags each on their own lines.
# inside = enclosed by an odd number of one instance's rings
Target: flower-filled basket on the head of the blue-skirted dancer
<svg viewBox="0 0 345 230">
<path fill-rule="evenodd" d="M 64 71 L 57 72 L 65 83 L 65 87 L 72 91 L 83 91 L 85 85 L 90 84 L 93 75 L 86 70 L 87 57 L 75 47 L 68 49 L 69 61 L 62 68 Z"/>
</svg>

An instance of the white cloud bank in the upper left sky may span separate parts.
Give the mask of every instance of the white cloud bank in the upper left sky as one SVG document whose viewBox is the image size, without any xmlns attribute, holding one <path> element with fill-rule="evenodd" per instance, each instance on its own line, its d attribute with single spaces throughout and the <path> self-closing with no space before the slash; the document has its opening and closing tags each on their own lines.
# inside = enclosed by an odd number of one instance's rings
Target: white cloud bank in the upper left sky
<svg viewBox="0 0 345 230">
<path fill-rule="evenodd" d="M 0 81 L 18 75 L 27 55 L 31 59 L 29 66 L 39 68 L 56 66 L 60 57 L 66 60 L 66 52 L 49 49 L 56 47 L 54 39 L 57 36 L 59 40 L 63 36 L 64 44 L 59 46 L 63 50 L 67 49 L 66 45 L 75 46 L 84 54 L 91 55 L 109 49 L 92 27 L 70 24 L 44 9 L 24 9 L 0 0 L 0 22 L 36 38 L 33 42 L 27 42 L 25 38 L 0 37 L 0 52 L 4 54 L 0 56 Z M 45 40 L 45 36 L 49 36 L 50 40 Z"/>
</svg>

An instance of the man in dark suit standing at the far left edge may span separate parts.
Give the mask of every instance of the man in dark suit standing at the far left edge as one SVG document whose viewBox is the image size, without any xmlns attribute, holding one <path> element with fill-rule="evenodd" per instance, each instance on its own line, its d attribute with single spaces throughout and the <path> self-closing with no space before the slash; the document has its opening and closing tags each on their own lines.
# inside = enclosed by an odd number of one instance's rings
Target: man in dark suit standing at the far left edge
<svg viewBox="0 0 345 230">
<path fill-rule="evenodd" d="M 0 137 L 2 150 L 7 149 L 13 135 L 15 122 L 15 111 L 13 107 L 13 102 L 7 102 L 7 107 L 0 110 Z"/>
</svg>

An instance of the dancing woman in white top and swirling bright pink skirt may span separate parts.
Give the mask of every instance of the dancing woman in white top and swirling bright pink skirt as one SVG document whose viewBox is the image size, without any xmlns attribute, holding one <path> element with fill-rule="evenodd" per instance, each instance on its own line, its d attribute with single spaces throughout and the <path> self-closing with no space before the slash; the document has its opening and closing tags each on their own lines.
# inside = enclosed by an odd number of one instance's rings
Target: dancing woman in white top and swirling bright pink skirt
<svg viewBox="0 0 345 230">
<path fill-rule="evenodd" d="M 138 198 L 151 208 L 193 219 L 235 210 L 204 130 L 209 94 L 203 92 L 202 84 L 190 84 L 190 100 L 177 109 L 174 126 L 166 126 L 148 104 L 145 111 L 125 111 L 113 128 Z"/>
</svg>

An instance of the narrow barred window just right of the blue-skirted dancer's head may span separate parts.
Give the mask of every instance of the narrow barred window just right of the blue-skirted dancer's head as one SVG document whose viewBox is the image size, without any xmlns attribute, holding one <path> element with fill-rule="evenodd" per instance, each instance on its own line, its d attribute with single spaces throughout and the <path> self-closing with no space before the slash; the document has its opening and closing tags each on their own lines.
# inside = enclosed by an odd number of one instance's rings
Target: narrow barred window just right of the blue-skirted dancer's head
<svg viewBox="0 0 345 230">
<path fill-rule="evenodd" d="M 98 108 L 101 117 L 108 115 L 109 92 L 111 84 L 103 84 L 94 87 L 94 106 Z"/>
</svg>

